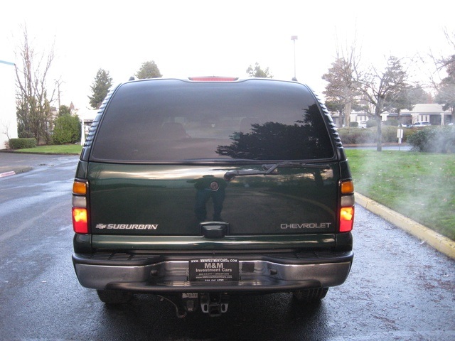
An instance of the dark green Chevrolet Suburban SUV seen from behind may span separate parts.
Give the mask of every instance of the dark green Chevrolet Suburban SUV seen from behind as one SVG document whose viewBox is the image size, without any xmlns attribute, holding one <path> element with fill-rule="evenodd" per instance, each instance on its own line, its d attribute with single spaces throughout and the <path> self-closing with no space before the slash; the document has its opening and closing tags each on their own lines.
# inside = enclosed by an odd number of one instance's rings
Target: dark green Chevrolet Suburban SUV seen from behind
<svg viewBox="0 0 455 341">
<path fill-rule="evenodd" d="M 73 264 L 101 301 L 152 293 L 179 316 L 229 296 L 309 302 L 353 261 L 354 188 L 336 127 L 299 82 L 133 80 L 105 99 L 73 185 Z"/>
</svg>

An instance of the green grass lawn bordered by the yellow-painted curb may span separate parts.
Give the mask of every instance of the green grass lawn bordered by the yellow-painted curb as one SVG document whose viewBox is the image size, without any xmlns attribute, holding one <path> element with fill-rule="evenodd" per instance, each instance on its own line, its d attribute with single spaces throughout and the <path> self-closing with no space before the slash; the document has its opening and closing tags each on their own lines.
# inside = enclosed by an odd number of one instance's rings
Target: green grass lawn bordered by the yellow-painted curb
<svg viewBox="0 0 455 341">
<path fill-rule="evenodd" d="M 355 191 L 455 240 L 455 155 L 348 149 Z"/>
</svg>

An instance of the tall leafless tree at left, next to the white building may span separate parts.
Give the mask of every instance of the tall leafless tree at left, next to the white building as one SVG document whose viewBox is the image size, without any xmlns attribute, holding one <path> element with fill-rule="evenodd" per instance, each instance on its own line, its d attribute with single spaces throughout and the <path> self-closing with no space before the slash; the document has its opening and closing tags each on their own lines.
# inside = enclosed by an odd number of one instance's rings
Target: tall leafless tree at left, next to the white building
<svg viewBox="0 0 455 341">
<path fill-rule="evenodd" d="M 53 102 L 55 87 L 48 96 L 46 79 L 52 65 L 53 45 L 45 57 L 33 49 L 26 26 L 23 27 L 23 41 L 16 50 L 22 67 L 16 65 L 16 107 L 19 137 L 35 137 L 38 141 L 48 142 L 52 123 L 50 103 Z"/>
</svg>

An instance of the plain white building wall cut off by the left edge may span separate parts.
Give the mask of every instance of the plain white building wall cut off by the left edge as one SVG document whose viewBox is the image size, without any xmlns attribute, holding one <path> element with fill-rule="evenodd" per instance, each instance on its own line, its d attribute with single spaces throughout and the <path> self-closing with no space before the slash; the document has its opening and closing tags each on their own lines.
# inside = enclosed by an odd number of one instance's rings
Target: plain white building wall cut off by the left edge
<svg viewBox="0 0 455 341">
<path fill-rule="evenodd" d="M 17 138 L 15 82 L 14 63 L 0 60 L 0 149 Z"/>
</svg>

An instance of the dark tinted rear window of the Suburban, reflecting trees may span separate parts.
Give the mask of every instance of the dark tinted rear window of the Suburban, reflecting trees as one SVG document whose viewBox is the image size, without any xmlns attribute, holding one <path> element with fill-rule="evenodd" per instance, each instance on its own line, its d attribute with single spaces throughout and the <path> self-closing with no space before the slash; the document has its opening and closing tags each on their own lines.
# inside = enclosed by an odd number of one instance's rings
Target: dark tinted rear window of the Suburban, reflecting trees
<svg viewBox="0 0 455 341">
<path fill-rule="evenodd" d="M 271 80 L 126 83 L 109 101 L 92 146 L 99 161 L 332 157 L 311 92 Z"/>
</svg>

